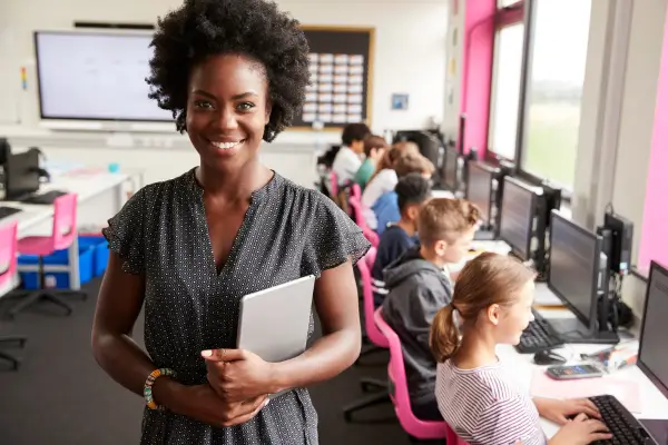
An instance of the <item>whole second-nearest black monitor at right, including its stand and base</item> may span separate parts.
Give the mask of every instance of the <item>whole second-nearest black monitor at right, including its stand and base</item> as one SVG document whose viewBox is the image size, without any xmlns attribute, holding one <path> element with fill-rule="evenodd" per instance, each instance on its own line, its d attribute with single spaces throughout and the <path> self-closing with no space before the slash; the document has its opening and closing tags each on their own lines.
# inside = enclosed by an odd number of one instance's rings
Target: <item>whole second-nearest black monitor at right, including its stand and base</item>
<svg viewBox="0 0 668 445">
<path fill-rule="evenodd" d="M 552 210 L 548 287 L 576 318 L 550 324 L 567 343 L 619 343 L 608 328 L 608 314 L 599 314 L 599 295 L 608 298 L 608 277 L 603 237 Z"/>
</svg>

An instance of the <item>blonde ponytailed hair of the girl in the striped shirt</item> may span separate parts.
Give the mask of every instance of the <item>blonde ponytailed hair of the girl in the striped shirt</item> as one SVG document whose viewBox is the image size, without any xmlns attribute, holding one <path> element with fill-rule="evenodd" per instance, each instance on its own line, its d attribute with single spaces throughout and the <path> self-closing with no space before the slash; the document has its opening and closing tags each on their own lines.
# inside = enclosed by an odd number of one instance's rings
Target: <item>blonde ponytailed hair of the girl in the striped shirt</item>
<svg viewBox="0 0 668 445">
<path fill-rule="evenodd" d="M 507 255 L 484 253 L 466 263 L 456 278 L 452 301 L 432 322 L 430 347 L 436 362 L 445 362 L 460 347 L 455 309 L 464 325 L 475 322 L 491 305 L 514 303 L 522 287 L 533 279 L 532 269 Z"/>
</svg>

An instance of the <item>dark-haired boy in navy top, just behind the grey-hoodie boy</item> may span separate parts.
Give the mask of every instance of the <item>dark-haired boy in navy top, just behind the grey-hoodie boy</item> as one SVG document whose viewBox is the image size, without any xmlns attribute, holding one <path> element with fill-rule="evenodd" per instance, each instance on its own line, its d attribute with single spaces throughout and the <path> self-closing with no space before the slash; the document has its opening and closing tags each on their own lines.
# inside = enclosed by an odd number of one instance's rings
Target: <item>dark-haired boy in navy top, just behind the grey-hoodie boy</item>
<svg viewBox="0 0 668 445">
<path fill-rule="evenodd" d="M 374 284 L 376 307 L 383 304 L 387 289 L 383 280 L 383 270 L 407 249 L 418 244 L 418 215 L 422 205 L 430 198 L 431 185 L 420 174 L 409 174 L 394 187 L 401 219 L 381 236 L 376 258 L 371 271 Z"/>
</svg>

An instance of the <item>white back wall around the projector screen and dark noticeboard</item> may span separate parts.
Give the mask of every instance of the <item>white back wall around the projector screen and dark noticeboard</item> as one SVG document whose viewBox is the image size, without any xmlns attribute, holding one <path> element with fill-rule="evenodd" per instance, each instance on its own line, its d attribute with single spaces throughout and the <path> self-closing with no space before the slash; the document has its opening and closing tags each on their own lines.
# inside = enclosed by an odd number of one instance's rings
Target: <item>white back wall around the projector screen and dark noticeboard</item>
<svg viewBox="0 0 668 445">
<path fill-rule="evenodd" d="M 27 92 L 20 91 L 19 69 L 26 65 L 33 80 L 33 29 L 69 28 L 73 20 L 154 22 L 179 0 L 61 0 L 52 8 L 50 0 L 2 1 L 0 13 L 0 96 L 22 97 L 19 107 L 0 102 L 0 123 L 35 127 L 38 108 L 35 81 Z M 433 117 L 443 117 L 445 73 L 445 0 L 278 1 L 306 24 L 364 26 L 376 28 L 373 76 L 373 129 L 424 128 Z M 48 13 L 45 13 L 46 10 Z M 11 43 L 9 43 L 11 42 Z M 11 47 L 11 51 L 8 49 Z M 391 110 L 394 92 L 409 93 L 406 111 Z M 325 139 L 331 137 L 324 136 Z M 336 135 L 335 139 L 338 136 Z M 297 139 L 303 140 L 302 137 Z M 289 141 L 289 135 L 281 137 Z"/>
</svg>

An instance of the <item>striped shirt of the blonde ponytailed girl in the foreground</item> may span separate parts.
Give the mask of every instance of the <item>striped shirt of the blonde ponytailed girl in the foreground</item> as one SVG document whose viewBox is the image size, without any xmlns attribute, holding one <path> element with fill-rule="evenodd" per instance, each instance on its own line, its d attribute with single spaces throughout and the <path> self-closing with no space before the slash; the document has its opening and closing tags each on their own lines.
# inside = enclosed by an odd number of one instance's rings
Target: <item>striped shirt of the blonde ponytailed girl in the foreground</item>
<svg viewBox="0 0 668 445">
<path fill-rule="evenodd" d="M 436 400 L 443 419 L 471 445 L 547 443 L 529 393 L 501 363 L 474 369 L 439 364 Z"/>
</svg>

